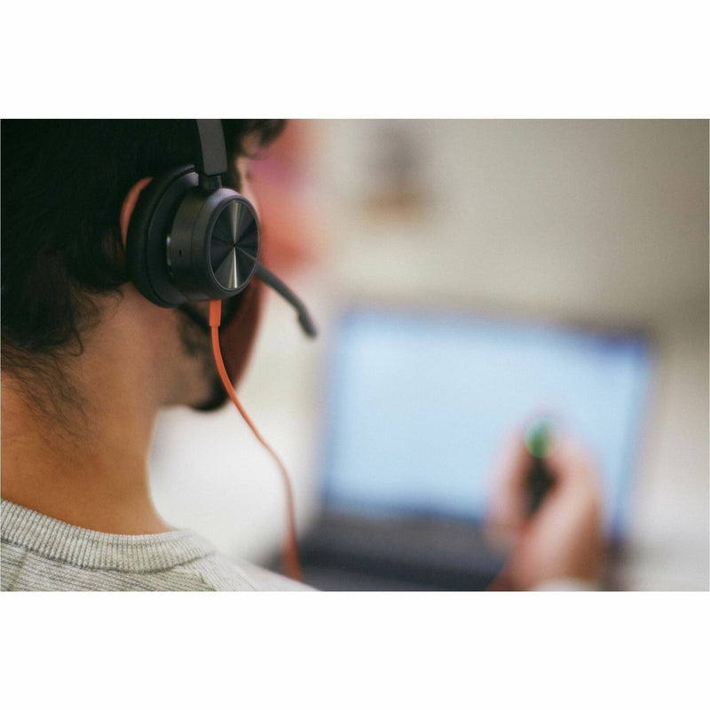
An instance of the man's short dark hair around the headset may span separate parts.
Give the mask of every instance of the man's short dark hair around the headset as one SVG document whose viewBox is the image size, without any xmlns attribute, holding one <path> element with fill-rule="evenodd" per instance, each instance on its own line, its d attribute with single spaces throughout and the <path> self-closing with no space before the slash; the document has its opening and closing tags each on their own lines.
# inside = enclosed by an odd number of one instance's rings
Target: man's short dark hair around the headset
<svg viewBox="0 0 710 710">
<path fill-rule="evenodd" d="M 284 122 L 223 122 L 231 154 Z M 97 313 L 91 296 L 128 280 L 119 226 L 138 179 L 193 163 L 186 120 L 2 122 L 2 353 L 15 374 L 81 352 Z M 226 183 L 239 189 L 234 161 Z M 45 358 L 45 359 L 46 359 Z"/>
</svg>

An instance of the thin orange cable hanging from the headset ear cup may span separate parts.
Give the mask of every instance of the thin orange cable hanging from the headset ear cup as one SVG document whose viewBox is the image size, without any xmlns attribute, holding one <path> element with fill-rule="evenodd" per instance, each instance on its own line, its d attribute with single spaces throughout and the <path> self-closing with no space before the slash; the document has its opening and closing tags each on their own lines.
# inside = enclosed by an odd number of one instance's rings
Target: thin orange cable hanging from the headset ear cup
<svg viewBox="0 0 710 710">
<path fill-rule="evenodd" d="M 209 330 L 212 337 L 212 354 L 215 358 L 215 364 L 217 365 L 217 372 L 219 373 L 219 378 L 222 381 L 225 391 L 229 398 L 233 401 L 234 406 L 241 414 L 242 419 L 247 422 L 248 428 L 252 430 L 254 436 L 259 440 L 262 446 L 272 455 L 276 465 L 279 467 L 281 478 L 283 479 L 284 486 L 286 488 L 286 503 L 287 503 L 287 532 L 286 539 L 284 540 L 283 546 L 283 564 L 284 571 L 293 580 L 302 580 L 301 576 L 301 564 L 298 561 L 298 547 L 296 543 L 296 516 L 294 513 L 294 495 L 291 488 L 291 482 L 288 479 L 288 473 L 286 467 L 281 462 L 279 456 L 273 451 L 272 447 L 269 446 L 262 438 L 261 434 L 256 430 L 254 422 L 249 419 L 248 414 L 244 411 L 241 406 L 239 399 L 237 399 L 236 392 L 230 382 L 229 375 L 225 369 L 225 362 L 222 359 L 222 351 L 219 347 L 219 324 L 222 320 L 222 302 L 221 301 L 210 301 L 209 302 Z"/>
</svg>

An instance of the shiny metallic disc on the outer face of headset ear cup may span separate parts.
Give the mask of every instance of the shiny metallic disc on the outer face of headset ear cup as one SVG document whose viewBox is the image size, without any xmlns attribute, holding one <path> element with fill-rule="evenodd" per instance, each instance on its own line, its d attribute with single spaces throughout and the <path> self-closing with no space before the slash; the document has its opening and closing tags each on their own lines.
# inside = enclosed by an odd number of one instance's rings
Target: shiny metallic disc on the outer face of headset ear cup
<svg viewBox="0 0 710 710">
<path fill-rule="evenodd" d="M 225 291 L 240 291 L 256 269 L 259 235 L 256 213 L 248 201 L 227 202 L 217 216 L 209 243 L 209 264 Z"/>
</svg>

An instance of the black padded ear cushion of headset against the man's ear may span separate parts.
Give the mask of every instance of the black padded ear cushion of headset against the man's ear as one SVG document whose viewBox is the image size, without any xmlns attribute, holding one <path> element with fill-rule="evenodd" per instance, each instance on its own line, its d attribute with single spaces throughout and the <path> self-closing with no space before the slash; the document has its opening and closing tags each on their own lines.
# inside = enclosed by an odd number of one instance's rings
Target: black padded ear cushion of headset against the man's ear
<svg viewBox="0 0 710 710">
<path fill-rule="evenodd" d="M 185 193 L 198 185 L 192 165 L 151 180 L 141 191 L 126 234 L 126 264 L 138 291 L 156 305 L 171 308 L 187 298 L 170 279 L 166 247 L 173 219 Z"/>
</svg>

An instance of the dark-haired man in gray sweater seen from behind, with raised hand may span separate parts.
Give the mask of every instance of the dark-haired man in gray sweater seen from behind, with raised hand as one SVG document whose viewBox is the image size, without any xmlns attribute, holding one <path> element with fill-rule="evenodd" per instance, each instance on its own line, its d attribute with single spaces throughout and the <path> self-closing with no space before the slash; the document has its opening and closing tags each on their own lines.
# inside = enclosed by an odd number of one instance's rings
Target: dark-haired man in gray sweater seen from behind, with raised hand
<svg viewBox="0 0 710 710">
<path fill-rule="evenodd" d="M 160 409 L 225 401 L 199 325 L 206 304 L 152 304 L 124 258 L 146 183 L 194 162 L 187 123 L 3 122 L 3 589 L 306 588 L 172 530 L 150 499 L 146 456 Z M 281 128 L 224 122 L 226 183 L 251 201 L 249 156 Z M 259 293 L 252 280 L 225 304 L 223 328 L 238 343 L 233 380 L 254 341 Z M 555 494 L 533 525 L 516 502 L 519 454 L 511 449 L 494 498 L 495 522 L 515 539 L 499 588 L 594 580 L 588 464 L 560 447 Z"/>
</svg>

